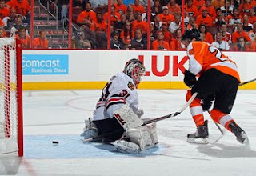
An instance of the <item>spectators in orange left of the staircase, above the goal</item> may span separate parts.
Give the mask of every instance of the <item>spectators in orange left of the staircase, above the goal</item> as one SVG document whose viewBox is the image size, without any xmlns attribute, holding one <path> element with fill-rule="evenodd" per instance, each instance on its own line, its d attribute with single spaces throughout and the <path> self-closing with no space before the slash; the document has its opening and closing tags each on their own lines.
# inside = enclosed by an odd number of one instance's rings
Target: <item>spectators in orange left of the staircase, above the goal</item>
<svg viewBox="0 0 256 176">
<path fill-rule="evenodd" d="M 46 32 L 39 31 L 39 37 L 30 41 L 30 3 L 28 0 L 0 0 L 0 38 L 15 37 L 22 42 L 22 48 L 48 48 Z"/>
</svg>

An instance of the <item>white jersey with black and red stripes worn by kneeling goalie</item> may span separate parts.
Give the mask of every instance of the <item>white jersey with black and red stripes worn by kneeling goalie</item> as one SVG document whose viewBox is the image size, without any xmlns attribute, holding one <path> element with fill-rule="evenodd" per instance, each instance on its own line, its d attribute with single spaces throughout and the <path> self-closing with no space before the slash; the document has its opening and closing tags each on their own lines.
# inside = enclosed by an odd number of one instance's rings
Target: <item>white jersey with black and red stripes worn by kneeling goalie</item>
<svg viewBox="0 0 256 176">
<path fill-rule="evenodd" d="M 94 110 L 94 121 L 113 118 L 114 111 L 123 104 L 130 106 L 134 113 L 138 110 L 138 93 L 132 78 L 120 72 L 110 78 L 102 89 L 102 96 Z"/>
</svg>

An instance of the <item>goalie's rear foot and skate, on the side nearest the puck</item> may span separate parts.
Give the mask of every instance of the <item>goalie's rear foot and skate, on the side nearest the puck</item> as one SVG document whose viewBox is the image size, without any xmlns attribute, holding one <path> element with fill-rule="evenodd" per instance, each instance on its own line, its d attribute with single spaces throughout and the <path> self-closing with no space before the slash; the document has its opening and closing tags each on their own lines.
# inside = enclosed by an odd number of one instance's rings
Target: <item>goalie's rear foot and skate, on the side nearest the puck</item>
<svg viewBox="0 0 256 176">
<path fill-rule="evenodd" d="M 90 118 L 88 120 L 85 120 L 86 126 L 83 128 L 83 132 L 80 135 L 83 138 L 94 138 L 98 135 L 98 129 L 95 126 L 94 122 L 91 121 Z"/>
</svg>

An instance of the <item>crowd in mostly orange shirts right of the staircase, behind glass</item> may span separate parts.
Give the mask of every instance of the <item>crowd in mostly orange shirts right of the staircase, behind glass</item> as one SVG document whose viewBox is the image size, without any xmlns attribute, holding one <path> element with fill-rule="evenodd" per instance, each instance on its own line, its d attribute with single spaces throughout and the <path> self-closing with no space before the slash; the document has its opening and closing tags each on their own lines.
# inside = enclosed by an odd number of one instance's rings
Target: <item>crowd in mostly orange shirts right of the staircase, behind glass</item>
<svg viewBox="0 0 256 176">
<path fill-rule="evenodd" d="M 82 34 L 78 38 L 90 43 L 89 48 L 106 49 L 108 1 L 73 2 L 73 8 L 82 9 L 75 19 Z M 150 36 L 151 50 L 186 50 L 182 31 L 195 29 L 202 41 L 220 50 L 256 51 L 255 0 L 186 0 L 183 12 L 181 0 L 150 2 L 149 8 L 147 0 L 112 0 L 111 49 L 147 50 L 147 37 Z M 149 35 L 148 10 L 151 14 Z"/>
</svg>

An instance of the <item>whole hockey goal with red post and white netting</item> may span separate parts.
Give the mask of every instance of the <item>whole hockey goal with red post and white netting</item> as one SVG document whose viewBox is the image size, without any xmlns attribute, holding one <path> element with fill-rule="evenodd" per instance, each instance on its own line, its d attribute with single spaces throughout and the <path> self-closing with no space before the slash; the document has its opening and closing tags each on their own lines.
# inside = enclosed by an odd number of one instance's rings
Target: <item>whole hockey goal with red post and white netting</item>
<svg viewBox="0 0 256 176">
<path fill-rule="evenodd" d="M 0 38 L 0 156 L 23 155 L 22 51 L 15 38 Z"/>
</svg>

